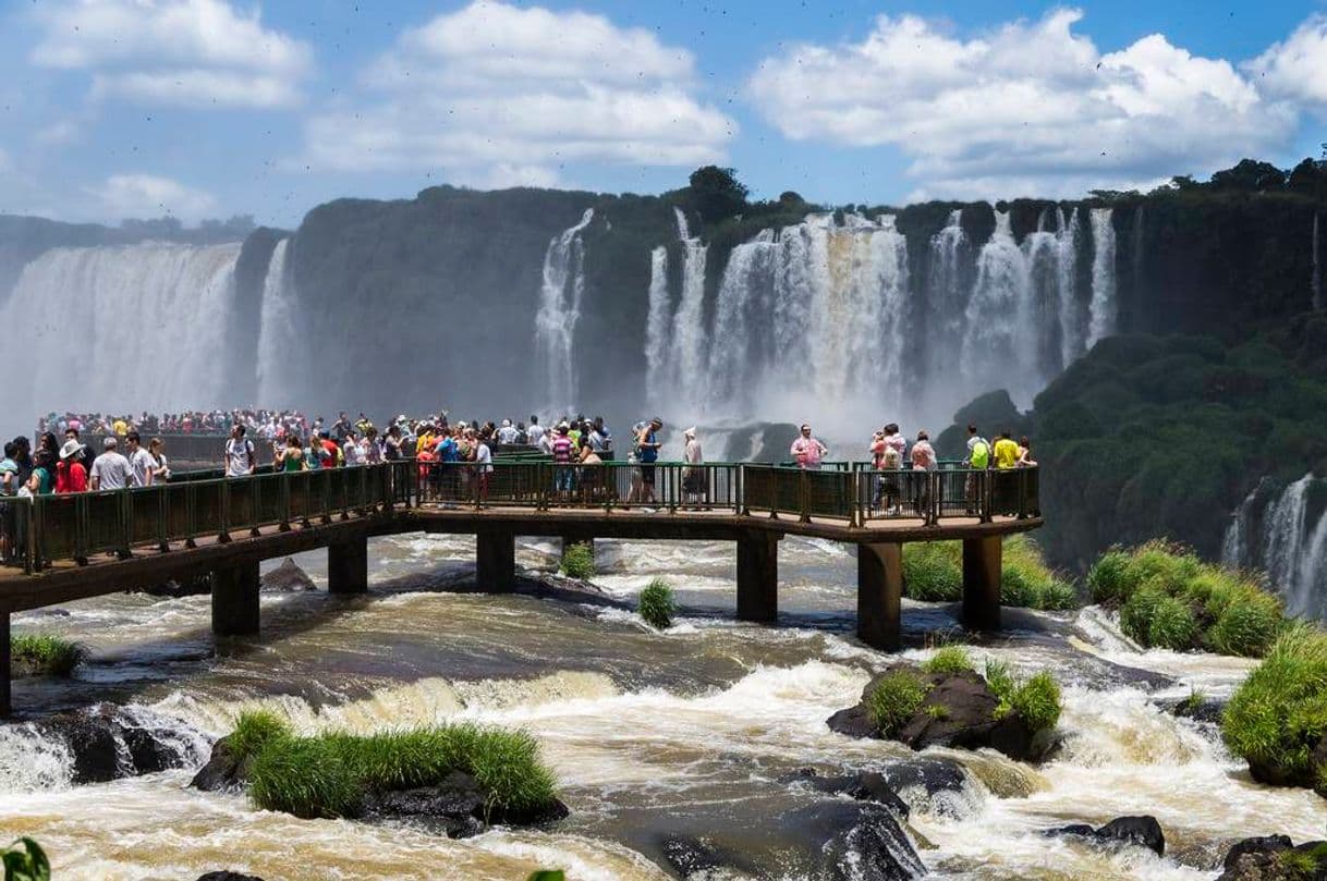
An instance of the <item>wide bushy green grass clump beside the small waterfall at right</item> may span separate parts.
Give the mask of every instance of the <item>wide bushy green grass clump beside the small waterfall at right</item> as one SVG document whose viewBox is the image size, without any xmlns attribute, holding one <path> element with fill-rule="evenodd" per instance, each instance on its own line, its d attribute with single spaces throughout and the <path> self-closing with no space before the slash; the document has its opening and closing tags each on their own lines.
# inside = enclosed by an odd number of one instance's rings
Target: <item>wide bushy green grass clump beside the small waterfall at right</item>
<svg viewBox="0 0 1327 881">
<path fill-rule="evenodd" d="M 1120 609 L 1120 630 L 1145 647 L 1262 657 L 1285 626 L 1281 600 L 1257 577 L 1164 541 L 1108 551 L 1088 584 L 1095 600 Z"/>
</svg>

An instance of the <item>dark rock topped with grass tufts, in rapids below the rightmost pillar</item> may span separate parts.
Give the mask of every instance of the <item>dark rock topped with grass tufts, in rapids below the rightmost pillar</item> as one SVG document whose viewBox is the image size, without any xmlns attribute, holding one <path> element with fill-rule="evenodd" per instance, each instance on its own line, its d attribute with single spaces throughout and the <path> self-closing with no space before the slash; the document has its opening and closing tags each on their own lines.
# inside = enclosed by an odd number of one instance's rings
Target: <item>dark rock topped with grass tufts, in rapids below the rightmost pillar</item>
<svg viewBox="0 0 1327 881">
<path fill-rule="evenodd" d="M 868 702 L 880 681 L 900 670 L 917 675 L 926 687 L 926 697 L 889 739 L 918 751 L 932 746 L 990 747 L 1020 762 L 1039 762 L 1054 747 L 1051 732 L 1034 732 L 1016 711 L 997 718 L 999 701 L 986 681 L 973 671 L 924 673 L 912 666 L 890 667 L 867 683 L 856 706 L 839 710 L 825 724 L 852 738 L 882 736 L 871 719 Z"/>
</svg>

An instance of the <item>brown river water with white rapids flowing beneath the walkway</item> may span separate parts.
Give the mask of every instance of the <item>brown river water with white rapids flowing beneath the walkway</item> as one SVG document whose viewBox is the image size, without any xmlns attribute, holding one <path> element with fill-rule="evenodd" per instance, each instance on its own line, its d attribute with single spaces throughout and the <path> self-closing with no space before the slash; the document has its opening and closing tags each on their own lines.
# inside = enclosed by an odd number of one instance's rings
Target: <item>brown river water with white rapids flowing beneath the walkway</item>
<svg viewBox="0 0 1327 881">
<path fill-rule="evenodd" d="M 518 563 L 551 569 L 553 551 L 523 544 Z M 405 827 L 297 820 L 256 811 L 240 795 L 192 791 L 191 770 L 70 787 L 70 758 L 17 724 L 0 730 L 0 836 L 38 839 L 60 878 L 178 880 L 226 868 L 268 881 L 508 880 L 537 866 L 576 880 L 666 878 L 658 848 L 669 833 L 710 836 L 747 854 L 760 877 L 813 877 L 823 835 L 798 817 L 825 796 L 788 775 L 912 755 L 824 724 L 889 659 L 852 636 L 852 553 L 782 544 L 778 629 L 730 620 L 731 545 L 600 541 L 598 556 L 605 575 L 596 584 L 626 602 L 456 592 L 472 578 L 472 540 L 381 539 L 370 543 L 369 596 L 264 594 L 261 638 L 224 657 L 212 657 L 207 597 L 119 594 L 15 618 L 17 632 L 62 633 L 93 653 L 74 682 L 16 683 L 17 707 L 123 703 L 170 727 L 198 764 L 211 738 L 253 705 L 280 709 L 303 731 L 462 719 L 524 726 L 572 811 L 553 831 L 451 841 Z M 297 561 L 322 578 L 325 555 Z M 629 610 L 658 575 L 683 605 L 664 634 Z M 1010 632 L 974 655 L 1055 669 L 1066 686 L 1064 747 L 1038 768 L 994 752 L 928 751 L 967 776 L 961 793 L 913 804 L 910 831 L 934 877 L 1212 878 L 1235 839 L 1322 837 L 1327 801 L 1251 783 L 1210 727 L 1156 706 L 1193 687 L 1229 694 L 1247 662 L 1139 653 L 1095 609 L 1006 614 Z M 904 626 L 914 646 L 906 654 L 924 657 L 929 634 L 954 621 L 945 606 L 905 601 Z M 1040 835 L 1131 813 L 1160 820 L 1165 858 Z"/>
</svg>

